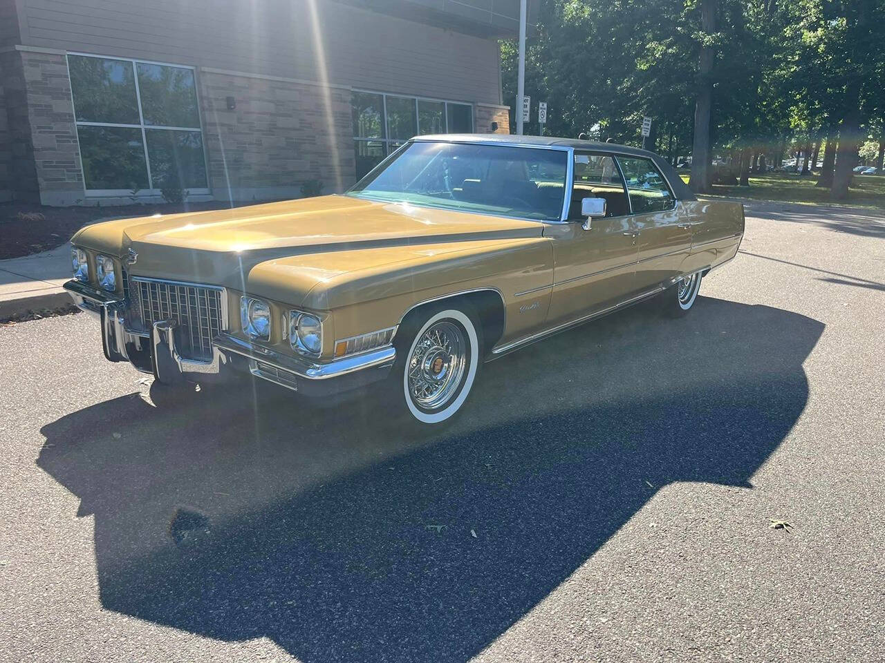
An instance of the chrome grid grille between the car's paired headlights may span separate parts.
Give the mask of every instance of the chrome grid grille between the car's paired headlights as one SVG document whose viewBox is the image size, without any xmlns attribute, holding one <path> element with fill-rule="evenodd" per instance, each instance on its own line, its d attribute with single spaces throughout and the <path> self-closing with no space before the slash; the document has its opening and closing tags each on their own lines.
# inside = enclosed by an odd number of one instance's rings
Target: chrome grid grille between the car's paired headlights
<svg viewBox="0 0 885 663">
<path fill-rule="evenodd" d="M 175 347 L 181 357 L 212 360 L 212 339 L 227 326 L 222 315 L 224 288 L 153 278 L 126 281 L 128 324 L 134 331 L 148 331 L 158 320 L 174 320 Z"/>
</svg>

